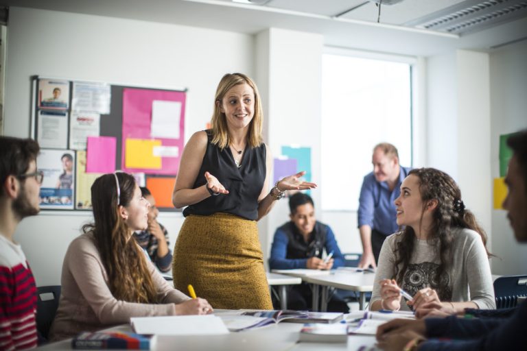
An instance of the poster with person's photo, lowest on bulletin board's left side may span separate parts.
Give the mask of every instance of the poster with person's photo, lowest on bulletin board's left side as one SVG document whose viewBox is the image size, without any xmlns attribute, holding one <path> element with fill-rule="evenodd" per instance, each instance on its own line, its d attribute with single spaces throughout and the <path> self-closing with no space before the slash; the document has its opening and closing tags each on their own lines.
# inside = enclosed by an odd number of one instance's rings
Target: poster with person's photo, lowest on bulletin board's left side
<svg viewBox="0 0 527 351">
<path fill-rule="evenodd" d="M 72 210 L 75 193 L 75 152 L 66 149 L 42 149 L 36 164 L 44 173 L 44 180 L 40 186 L 40 208 Z"/>
</svg>

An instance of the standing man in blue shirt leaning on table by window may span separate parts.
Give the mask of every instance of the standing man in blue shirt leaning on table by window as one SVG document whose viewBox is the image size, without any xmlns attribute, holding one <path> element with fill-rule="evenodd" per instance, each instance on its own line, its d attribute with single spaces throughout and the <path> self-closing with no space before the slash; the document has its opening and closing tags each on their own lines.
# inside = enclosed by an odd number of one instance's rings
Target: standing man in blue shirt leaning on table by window
<svg viewBox="0 0 527 351">
<path fill-rule="evenodd" d="M 375 145 L 371 162 L 373 172 L 364 177 L 360 189 L 358 226 L 363 254 L 359 267 L 377 267 L 384 239 L 399 229 L 393 202 L 410 171 L 399 165 L 397 148 L 389 143 Z"/>
</svg>

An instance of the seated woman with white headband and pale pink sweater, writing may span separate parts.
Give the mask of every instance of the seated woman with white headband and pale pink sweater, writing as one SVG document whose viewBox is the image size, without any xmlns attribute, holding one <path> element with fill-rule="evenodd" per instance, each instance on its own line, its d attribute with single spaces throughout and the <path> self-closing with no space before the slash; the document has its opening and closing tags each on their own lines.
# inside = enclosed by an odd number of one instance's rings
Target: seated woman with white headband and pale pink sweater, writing
<svg viewBox="0 0 527 351">
<path fill-rule="evenodd" d="M 163 279 L 132 239 L 147 228 L 150 203 L 132 175 L 105 174 L 91 186 L 94 223 L 68 247 L 62 293 L 50 339 L 130 322 L 130 317 L 212 312 L 207 300 L 191 300 Z"/>
</svg>

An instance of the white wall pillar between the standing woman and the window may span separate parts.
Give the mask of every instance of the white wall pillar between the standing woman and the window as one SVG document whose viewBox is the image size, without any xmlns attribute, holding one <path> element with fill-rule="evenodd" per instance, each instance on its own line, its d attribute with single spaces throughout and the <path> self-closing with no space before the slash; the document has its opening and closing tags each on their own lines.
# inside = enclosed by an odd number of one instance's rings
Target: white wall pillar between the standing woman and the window
<svg viewBox="0 0 527 351">
<path fill-rule="evenodd" d="M 268 66 L 259 76 L 266 86 L 268 100 L 268 143 L 273 156 L 283 145 L 311 147 L 312 181 L 320 180 L 320 89 L 323 36 L 270 28 L 257 36 L 258 66 Z M 263 43 L 267 43 L 265 46 Z M 320 191 L 312 191 L 320 204 Z M 274 230 L 289 220 L 287 200 L 278 202 L 264 219 L 261 244 L 268 257 Z M 266 234 L 265 234 L 266 233 Z"/>
</svg>

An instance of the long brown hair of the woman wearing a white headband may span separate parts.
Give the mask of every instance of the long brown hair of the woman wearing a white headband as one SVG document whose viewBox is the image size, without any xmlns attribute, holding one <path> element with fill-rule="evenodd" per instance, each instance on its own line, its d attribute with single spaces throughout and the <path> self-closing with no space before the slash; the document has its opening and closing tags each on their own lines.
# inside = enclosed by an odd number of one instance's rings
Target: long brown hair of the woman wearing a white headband
<svg viewBox="0 0 527 351">
<path fill-rule="evenodd" d="M 117 206 L 117 182 L 120 197 Z M 130 228 L 119 215 L 120 206 L 128 206 L 136 184 L 124 172 L 101 175 L 91 186 L 94 223 L 82 227 L 92 233 L 108 274 L 110 291 L 117 300 L 156 303 L 156 289 L 148 271 L 145 254 L 131 237 Z"/>
</svg>

